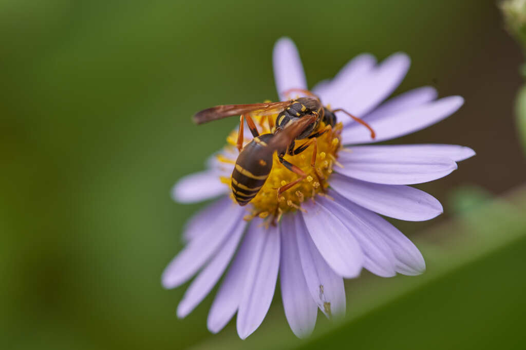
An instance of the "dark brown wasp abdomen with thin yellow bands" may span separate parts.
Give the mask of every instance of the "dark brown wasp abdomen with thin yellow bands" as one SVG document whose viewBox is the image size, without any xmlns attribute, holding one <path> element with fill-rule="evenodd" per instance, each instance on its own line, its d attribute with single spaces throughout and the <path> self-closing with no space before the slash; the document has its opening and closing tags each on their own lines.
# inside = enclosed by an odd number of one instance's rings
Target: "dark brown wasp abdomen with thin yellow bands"
<svg viewBox="0 0 526 350">
<path fill-rule="evenodd" d="M 239 153 L 232 172 L 232 193 L 239 205 L 246 205 L 256 197 L 272 169 L 272 151 L 267 142 L 274 136 L 254 137 Z"/>
</svg>

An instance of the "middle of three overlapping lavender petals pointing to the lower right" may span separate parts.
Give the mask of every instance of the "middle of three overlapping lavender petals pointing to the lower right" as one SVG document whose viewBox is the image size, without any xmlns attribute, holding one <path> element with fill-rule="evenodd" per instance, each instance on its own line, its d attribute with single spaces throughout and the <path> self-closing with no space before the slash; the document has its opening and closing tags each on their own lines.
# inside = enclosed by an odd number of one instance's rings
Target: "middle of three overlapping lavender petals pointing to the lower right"
<svg viewBox="0 0 526 350">
<path fill-rule="evenodd" d="M 318 198 L 318 203 L 327 208 L 345 225 L 360 243 L 365 256 L 363 267 L 381 277 L 396 275 L 395 256 L 385 240 L 375 234 L 375 229 L 363 221 L 356 213 L 345 207 L 345 202 Z"/>
</svg>

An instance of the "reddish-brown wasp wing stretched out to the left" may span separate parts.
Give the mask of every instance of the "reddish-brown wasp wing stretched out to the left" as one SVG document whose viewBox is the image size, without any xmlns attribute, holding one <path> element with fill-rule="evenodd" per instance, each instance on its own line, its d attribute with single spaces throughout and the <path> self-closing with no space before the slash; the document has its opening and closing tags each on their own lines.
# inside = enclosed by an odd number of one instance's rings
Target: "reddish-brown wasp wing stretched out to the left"
<svg viewBox="0 0 526 350">
<path fill-rule="evenodd" d="M 290 105 L 290 101 L 253 104 L 224 104 L 197 112 L 194 115 L 193 120 L 196 124 L 203 124 L 232 115 L 272 115 L 281 112 L 288 105 Z"/>
</svg>

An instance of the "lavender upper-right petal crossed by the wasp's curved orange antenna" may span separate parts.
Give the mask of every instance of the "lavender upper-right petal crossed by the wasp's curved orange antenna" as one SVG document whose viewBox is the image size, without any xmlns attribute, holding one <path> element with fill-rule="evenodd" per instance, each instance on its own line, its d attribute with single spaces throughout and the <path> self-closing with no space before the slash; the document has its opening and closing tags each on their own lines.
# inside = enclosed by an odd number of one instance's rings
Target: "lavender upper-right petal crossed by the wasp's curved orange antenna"
<svg viewBox="0 0 526 350">
<path fill-rule="evenodd" d="M 424 103 L 410 110 L 385 115 L 369 124 L 376 132 L 376 139 L 374 140 L 371 140 L 369 130 L 355 123 L 343 129 L 341 133 L 342 143 L 361 144 L 395 139 L 441 121 L 457 111 L 463 103 L 462 97 L 450 96 Z"/>
</svg>

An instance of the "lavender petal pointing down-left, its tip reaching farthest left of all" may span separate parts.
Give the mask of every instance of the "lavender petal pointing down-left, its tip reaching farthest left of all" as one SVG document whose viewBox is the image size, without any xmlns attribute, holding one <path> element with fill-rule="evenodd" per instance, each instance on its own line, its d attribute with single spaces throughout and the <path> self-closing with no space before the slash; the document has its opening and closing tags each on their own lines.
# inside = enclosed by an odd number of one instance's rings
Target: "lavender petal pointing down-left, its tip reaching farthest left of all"
<svg viewBox="0 0 526 350">
<path fill-rule="evenodd" d="M 211 223 L 210 229 L 191 240 L 186 247 L 168 264 L 163 272 L 165 288 L 175 288 L 186 282 L 199 270 L 231 234 L 235 225 L 242 220 L 244 210 L 238 206 L 229 207 L 229 213 L 220 217 L 220 225 Z"/>
</svg>

